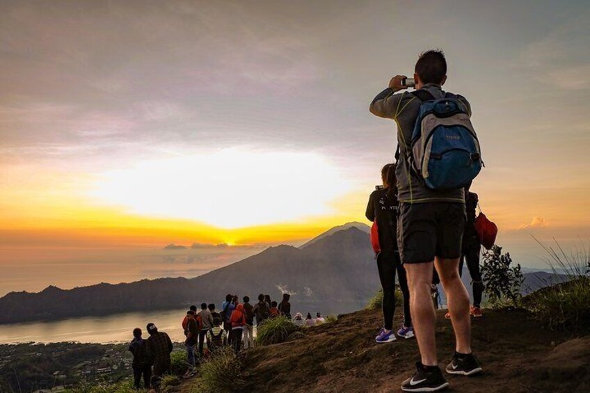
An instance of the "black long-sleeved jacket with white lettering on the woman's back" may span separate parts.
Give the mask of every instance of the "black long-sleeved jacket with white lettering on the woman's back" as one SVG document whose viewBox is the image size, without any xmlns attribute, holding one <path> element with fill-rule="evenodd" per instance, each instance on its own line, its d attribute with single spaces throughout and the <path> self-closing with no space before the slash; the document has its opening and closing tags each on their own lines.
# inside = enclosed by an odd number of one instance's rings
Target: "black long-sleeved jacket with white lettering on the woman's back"
<svg viewBox="0 0 590 393">
<path fill-rule="evenodd" d="M 387 189 L 378 189 L 369 196 L 365 216 L 369 221 L 377 221 L 379 246 L 381 251 L 397 251 L 397 202 L 396 193 L 388 195 Z"/>
</svg>

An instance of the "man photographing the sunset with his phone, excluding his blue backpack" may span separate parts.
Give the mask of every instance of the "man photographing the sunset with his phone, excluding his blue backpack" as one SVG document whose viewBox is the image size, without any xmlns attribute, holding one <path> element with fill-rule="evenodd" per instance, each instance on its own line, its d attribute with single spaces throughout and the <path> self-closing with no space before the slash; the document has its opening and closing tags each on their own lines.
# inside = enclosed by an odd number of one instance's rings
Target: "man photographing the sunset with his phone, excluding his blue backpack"
<svg viewBox="0 0 590 393">
<path fill-rule="evenodd" d="M 420 348 L 416 373 L 401 385 L 406 392 L 436 392 L 449 383 L 442 376 L 436 355 L 434 330 L 436 312 L 431 298 L 433 267 L 436 267 L 447 293 L 449 312 L 456 338 L 452 361 L 447 373 L 470 376 L 481 372 L 479 361 L 471 351 L 469 295 L 459 278 L 461 238 L 465 225 L 463 188 L 429 189 L 424 179 L 410 168 L 411 141 L 422 102 L 445 97 L 441 86 L 447 80 L 447 62 L 442 51 L 431 50 L 420 55 L 414 71 L 414 93 L 408 88 L 406 76 L 397 75 L 388 88 L 379 93 L 370 111 L 397 123 L 399 160 L 396 167 L 398 200 L 400 202 L 397 242 L 401 262 L 408 273 L 410 312 Z M 461 110 L 471 114 L 468 101 L 455 96 Z M 436 157 L 431 157 L 436 159 Z"/>
</svg>

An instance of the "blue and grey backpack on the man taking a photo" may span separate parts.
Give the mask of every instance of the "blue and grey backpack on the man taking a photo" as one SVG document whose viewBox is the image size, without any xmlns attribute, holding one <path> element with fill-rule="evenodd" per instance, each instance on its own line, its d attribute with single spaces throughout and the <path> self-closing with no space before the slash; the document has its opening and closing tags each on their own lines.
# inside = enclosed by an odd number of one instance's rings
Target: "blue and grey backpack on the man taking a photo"
<svg viewBox="0 0 590 393">
<path fill-rule="evenodd" d="M 413 93 L 420 113 L 410 143 L 410 168 L 433 190 L 460 189 L 484 165 L 477 134 L 463 102 L 452 93 L 435 99 L 426 90 Z"/>
</svg>

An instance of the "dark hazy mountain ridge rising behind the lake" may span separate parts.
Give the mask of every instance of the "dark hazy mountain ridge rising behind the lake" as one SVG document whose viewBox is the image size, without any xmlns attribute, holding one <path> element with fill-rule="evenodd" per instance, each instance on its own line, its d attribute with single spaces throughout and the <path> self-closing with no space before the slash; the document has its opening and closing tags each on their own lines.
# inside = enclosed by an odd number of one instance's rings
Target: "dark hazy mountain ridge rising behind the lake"
<svg viewBox="0 0 590 393">
<path fill-rule="evenodd" d="M 228 293 L 247 295 L 255 302 L 260 293 L 280 300 L 288 292 L 294 311 L 339 314 L 358 310 L 379 288 L 369 234 L 356 225 L 328 232 L 300 248 L 270 247 L 190 280 L 160 278 L 70 290 L 51 286 L 35 294 L 11 292 L 0 298 L 0 323 L 166 310 L 202 302 L 220 307 Z M 466 284 L 468 276 L 465 268 Z M 525 273 L 523 291 L 563 280 L 550 273 Z"/>
</svg>

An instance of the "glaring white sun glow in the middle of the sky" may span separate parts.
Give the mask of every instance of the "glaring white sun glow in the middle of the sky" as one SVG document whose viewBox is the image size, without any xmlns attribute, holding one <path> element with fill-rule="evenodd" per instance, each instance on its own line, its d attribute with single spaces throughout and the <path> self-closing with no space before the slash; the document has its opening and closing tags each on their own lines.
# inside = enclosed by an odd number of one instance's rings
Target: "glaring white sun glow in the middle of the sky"
<svg viewBox="0 0 590 393">
<path fill-rule="evenodd" d="M 321 154 L 228 148 L 102 173 L 90 197 L 133 214 L 234 229 L 332 214 L 350 189 Z"/>
</svg>

